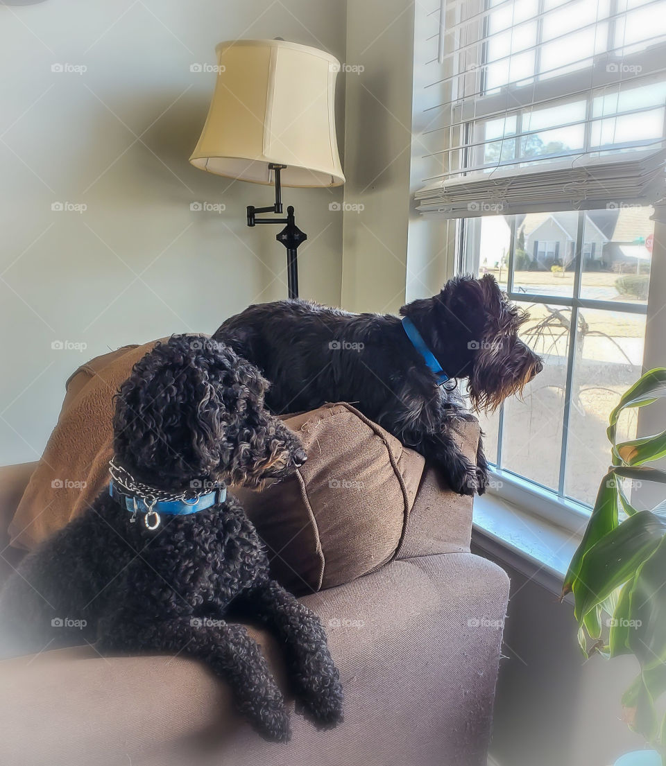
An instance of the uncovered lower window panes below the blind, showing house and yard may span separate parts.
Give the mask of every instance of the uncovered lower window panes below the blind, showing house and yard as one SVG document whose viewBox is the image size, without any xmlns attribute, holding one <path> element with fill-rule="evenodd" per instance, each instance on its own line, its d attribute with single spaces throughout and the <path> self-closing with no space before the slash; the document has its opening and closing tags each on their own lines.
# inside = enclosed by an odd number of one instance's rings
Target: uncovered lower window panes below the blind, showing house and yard
<svg viewBox="0 0 666 766">
<path fill-rule="evenodd" d="M 489 460 L 586 505 L 609 463 L 609 413 L 641 375 L 651 213 L 632 206 L 468 218 L 459 226 L 459 270 L 494 274 L 526 310 L 520 336 L 544 361 L 523 401 L 512 398 L 482 417 Z M 546 239 L 553 231 L 562 232 L 559 241 Z M 558 251 L 565 260 L 550 263 Z M 622 439 L 635 438 L 636 427 L 635 414 L 622 421 Z"/>
</svg>

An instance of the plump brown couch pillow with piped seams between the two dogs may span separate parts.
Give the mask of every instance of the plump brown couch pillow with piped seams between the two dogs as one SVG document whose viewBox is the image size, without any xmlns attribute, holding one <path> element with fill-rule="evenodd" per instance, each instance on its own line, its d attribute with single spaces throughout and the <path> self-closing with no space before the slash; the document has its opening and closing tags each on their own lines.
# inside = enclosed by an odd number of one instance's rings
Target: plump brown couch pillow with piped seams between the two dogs
<svg viewBox="0 0 666 766">
<path fill-rule="evenodd" d="M 307 463 L 261 493 L 234 489 L 275 577 L 306 594 L 385 564 L 402 538 L 423 457 L 350 404 L 326 404 L 285 423 L 300 434 Z"/>
</svg>

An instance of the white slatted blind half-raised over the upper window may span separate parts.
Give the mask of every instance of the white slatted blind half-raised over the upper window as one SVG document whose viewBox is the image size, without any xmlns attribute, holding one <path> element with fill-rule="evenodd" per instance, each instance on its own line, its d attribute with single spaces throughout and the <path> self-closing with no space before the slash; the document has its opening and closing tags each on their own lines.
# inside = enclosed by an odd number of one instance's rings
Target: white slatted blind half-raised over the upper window
<svg viewBox="0 0 666 766">
<path fill-rule="evenodd" d="M 664 196 L 666 0 L 442 0 L 426 68 L 423 213 Z"/>
</svg>

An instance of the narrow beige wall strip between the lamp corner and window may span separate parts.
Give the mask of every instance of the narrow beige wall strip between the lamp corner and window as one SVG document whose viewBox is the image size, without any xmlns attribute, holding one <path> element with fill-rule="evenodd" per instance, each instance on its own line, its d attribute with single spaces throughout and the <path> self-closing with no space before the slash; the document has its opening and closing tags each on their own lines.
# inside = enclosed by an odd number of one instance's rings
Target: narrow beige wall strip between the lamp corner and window
<svg viewBox="0 0 666 766">
<path fill-rule="evenodd" d="M 347 4 L 343 307 L 397 312 L 405 303 L 412 152 L 414 6 Z M 352 205 L 363 205 L 353 211 Z"/>
</svg>

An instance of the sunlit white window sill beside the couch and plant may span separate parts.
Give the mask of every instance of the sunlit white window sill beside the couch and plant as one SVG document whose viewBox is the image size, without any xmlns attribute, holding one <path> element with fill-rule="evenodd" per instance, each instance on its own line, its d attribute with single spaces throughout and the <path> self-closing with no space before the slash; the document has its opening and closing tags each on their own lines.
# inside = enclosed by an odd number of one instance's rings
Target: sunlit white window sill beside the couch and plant
<svg viewBox="0 0 666 766">
<path fill-rule="evenodd" d="M 559 596 L 585 525 L 571 532 L 487 493 L 474 498 L 472 542 Z"/>
</svg>

